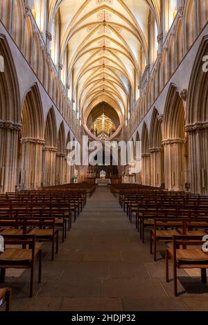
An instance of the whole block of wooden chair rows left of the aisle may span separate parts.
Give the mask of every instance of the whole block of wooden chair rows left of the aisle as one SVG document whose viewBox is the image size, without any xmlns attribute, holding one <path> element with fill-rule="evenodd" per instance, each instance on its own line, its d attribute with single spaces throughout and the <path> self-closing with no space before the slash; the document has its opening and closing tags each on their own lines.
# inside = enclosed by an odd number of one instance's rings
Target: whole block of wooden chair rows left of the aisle
<svg viewBox="0 0 208 325">
<path fill-rule="evenodd" d="M 91 195 L 93 187 L 89 190 Z M 67 186 L 64 189 L 54 187 L 0 194 L 0 236 L 3 236 L 5 246 L 5 250 L 0 253 L 0 282 L 5 281 L 7 268 L 29 268 L 30 297 L 32 297 L 36 261 L 39 261 L 39 282 L 42 275 L 42 248 L 38 242 L 51 242 L 53 260 L 54 253 L 58 253 L 59 230 L 62 231 L 64 241 L 67 236 L 67 223 L 68 230 L 71 229 L 71 212 L 76 221 L 86 201 L 85 189 L 77 187 L 68 189 Z M 7 292 L 3 295 L 6 301 L 9 295 Z M 10 302 L 7 302 L 7 310 L 9 305 Z"/>
</svg>

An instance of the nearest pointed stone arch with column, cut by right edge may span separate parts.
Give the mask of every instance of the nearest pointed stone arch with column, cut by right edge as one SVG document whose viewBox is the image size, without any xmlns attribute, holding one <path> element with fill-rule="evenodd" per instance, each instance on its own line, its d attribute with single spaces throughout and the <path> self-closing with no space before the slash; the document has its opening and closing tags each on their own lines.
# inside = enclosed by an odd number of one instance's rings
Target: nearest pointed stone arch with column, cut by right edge
<svg viewBox="0 0 208 325">
<path fill-rule="evenodd" d="M 208 37 L 202 39 L 191 73 L 187 100 L 187 127 L 191 192 L 208 194 L 208 74 L 202 58 L 208 53 Z"/>
</svg>

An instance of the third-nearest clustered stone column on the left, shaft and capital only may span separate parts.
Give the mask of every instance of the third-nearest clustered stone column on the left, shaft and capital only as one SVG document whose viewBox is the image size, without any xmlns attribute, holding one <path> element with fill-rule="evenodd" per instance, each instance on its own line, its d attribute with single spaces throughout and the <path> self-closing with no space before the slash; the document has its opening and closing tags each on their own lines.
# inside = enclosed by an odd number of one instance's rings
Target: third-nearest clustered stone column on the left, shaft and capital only
<svg viewBox="0 0 208 325">
<path fill-rule="evenodd" d="M 43 186 L 54 186 L 55 185 L 55 158 L 57 148 L 55 147 L 44 147 L 44 167 L 43 167 Z"/>
</svg>

